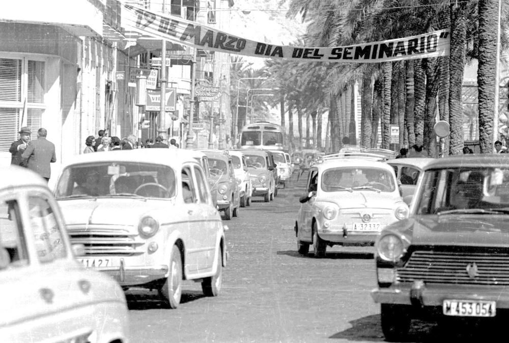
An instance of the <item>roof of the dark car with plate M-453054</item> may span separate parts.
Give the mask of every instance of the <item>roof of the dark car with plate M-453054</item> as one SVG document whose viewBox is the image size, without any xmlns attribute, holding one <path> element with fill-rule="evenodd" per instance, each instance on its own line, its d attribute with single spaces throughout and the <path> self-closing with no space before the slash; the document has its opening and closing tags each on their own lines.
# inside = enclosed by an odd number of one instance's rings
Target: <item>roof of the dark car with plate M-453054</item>
<svg viewBox="0 0 509 343">
<path fill-rule="evenodd" d="M 509 155 L 502 154 L 461 154 L 442 159 L 436 159 L 434 162 L 426 165 L 424 170 L 457 168 L 457 167 L 509 167 Z"/>
</svg>

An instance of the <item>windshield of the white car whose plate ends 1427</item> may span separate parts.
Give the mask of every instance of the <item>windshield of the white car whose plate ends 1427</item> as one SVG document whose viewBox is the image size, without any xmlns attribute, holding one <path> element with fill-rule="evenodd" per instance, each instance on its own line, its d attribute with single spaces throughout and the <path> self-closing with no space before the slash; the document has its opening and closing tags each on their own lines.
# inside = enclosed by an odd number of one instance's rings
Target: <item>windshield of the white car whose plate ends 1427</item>
<svg viewBox="0 0 509 343">
<path fill-rule="evenodd" d="M 175 172 L 157 164 L 100 162 L 67 167 L 56 186 L 56 199 L 142 196 L 171 198 Z"/>
</svg>

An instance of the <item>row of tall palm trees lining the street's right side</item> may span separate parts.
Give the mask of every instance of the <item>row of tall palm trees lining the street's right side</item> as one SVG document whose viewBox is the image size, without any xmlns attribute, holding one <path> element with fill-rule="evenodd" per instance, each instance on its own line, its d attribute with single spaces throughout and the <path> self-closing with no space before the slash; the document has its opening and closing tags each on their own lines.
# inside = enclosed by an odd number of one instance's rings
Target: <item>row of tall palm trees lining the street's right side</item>
<svg viewBox="0 0 509 343">
<path fill-rule="evenodd" d="M 298 116 L 299 137 L 302 119 L 313 123 L 313 139 L 321 148 L 322 114 L 328 112 L 327 136 L 330 150 L 337 151 L 344 137 L 364 146 L 377 144 L 388 148 L 390 125 L 400 128 L 399 145 L 423 145 L 435 151 L 433 126 L 440 120 L 450 123 L 445 152 L 462 153 L 464 66 L 478 60 L 478 131 L 481 152 L 491 152 L 495 102 L 495 63 L 497 39 L 497 0 L 288 0 L 290 16 L 299 15 L 307 23 L 306 34 L 294 45 L 345 46 L 402 38 L 450 27 L 450 55 L 409 59 L 378 64 L 296 63 L 269 60 L 256 75 L 268 77 L 256 86 L 277 88 L 277 96 L 259 99 L 276 102 L 281 109 L 281 124 L 288 113 L 289 137 L 293 139 L 293 115 Z M 507 0 L 502 1 L 502 18 Z M 502 55 L 507 46 L 507 20 L 502 20 Z M 240 71 L 241 72 L 241 71 Z M 254 75 L 256 74 L 256 75 Z M 245 76 L 241 76 L 245 77 Z M 262 83 L 263 82 L 263 86 Z M 234 85 L 234 82 L 232 82 Z M 236 84 L 235 84 L 236 86 Z M 359 141 L 355 135 L 354 92 L 361 99 Z M 380 122 L 380 127 L 379 123 Z M 316 128 L 316 129 L 315 129 Z M 300 145 L 300 142 L 295 144 Z"/>
</svg>

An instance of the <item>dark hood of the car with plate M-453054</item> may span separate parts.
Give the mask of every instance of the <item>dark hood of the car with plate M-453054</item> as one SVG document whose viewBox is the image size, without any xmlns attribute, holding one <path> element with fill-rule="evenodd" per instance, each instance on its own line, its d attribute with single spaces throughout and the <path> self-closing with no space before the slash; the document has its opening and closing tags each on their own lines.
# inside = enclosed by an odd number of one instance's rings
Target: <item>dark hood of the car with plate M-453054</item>
<svg viewBox="0 0 509 343">
<path fill-rule="evenodd" d="M 509 215 L 417 215 L 396 222 L 397 230 L 414 245 L 509 245 Z"/>
</svg>

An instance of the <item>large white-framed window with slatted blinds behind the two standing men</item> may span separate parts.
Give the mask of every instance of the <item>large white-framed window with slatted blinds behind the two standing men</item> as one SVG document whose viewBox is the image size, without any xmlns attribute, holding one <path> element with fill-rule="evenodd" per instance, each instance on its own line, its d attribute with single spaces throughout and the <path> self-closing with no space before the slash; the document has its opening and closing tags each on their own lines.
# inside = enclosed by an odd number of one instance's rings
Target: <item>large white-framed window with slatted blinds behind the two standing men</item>
<svg viewBox="0 0 509 343">
<path fill-rule="evenodd" d="M 35 138 L 44 114 L 45 92 L 44 61 L 0 58 L 0 151 L 9 151 L 21 126 L 30 127 L 31 138 Z"/>
</svg>

